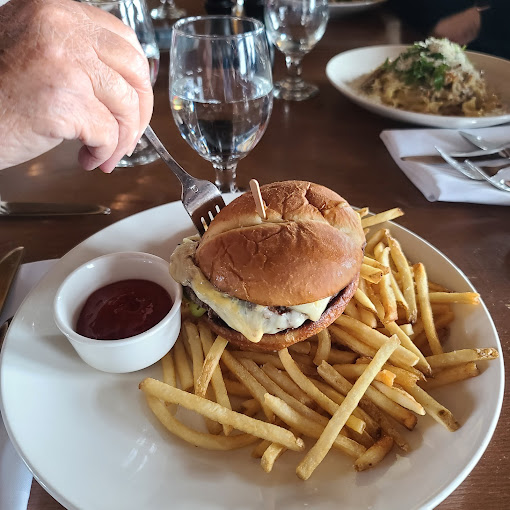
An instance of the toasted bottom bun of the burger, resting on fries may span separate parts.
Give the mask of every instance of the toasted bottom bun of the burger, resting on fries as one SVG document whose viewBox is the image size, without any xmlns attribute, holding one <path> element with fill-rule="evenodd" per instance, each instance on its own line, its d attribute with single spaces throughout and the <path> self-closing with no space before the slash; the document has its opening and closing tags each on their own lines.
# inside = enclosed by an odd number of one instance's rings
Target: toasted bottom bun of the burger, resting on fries
<svg viewBox="0 0 510 510">
<path fill-rule="evenodd" d="M 211 318 L 207 315 L 204 320 L 209 328 L 217 335 L 222 336 L 230 343 L 237 345 L 243 350 L 249 351 L 279 351 L 285 349 L 289 345 L 306 340 L 317 334 L 319 331 L 327 328 L 337 317 L 342 315 L 344 308 L 350 301 L 356 289 L 358 288 L 359 273 L 351 281 L 351 283 L 331 300 L 324 313 L 319 320 L 312 322 L 306 321 L 301 327 L 295 329 L 287 329 L 274 335 L 264 335 L 260 342 L 250 342 L 244 335 L 238 331 L 228 327 L 221 319 Z"/>
</svg>

